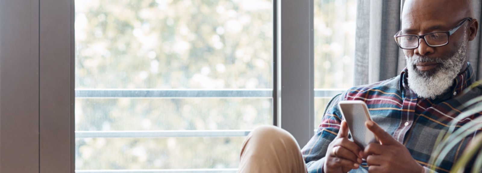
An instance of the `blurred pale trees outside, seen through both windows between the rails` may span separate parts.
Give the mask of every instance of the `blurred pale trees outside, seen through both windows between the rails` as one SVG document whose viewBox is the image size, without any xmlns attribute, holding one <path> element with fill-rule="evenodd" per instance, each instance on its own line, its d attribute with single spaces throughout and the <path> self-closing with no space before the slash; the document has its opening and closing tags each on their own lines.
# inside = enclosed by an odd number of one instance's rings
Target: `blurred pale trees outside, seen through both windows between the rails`
<svg viewBox="0 0 482 173">
<path fill-rule="evenodd" d="M 315 0 L 315 88 L 352 85 L 355 0 Z M 76 0 L 76 88 L 272 88 L 269 0 Z M 325 102 L 316 99 L 316 122 Z M 253 129 L 271 99 L 76 99 L 76 130 Z M 318 123 L 316 123 L 316 126 Z M 237 168 L 244 137 L 78 138 L 76 169 Z"/>
</svg>

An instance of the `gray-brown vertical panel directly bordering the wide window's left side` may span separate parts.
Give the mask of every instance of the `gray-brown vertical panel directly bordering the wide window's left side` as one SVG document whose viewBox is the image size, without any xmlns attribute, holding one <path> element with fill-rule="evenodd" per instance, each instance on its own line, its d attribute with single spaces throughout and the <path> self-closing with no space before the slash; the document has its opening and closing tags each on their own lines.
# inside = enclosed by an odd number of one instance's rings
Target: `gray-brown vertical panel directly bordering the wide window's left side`
<svg viewBox="0 0 482 173">
<path fill-rule="evenodd" d="M 73 0 L 40 3 L 40 172 L 73 173 Z"/>
</svg>

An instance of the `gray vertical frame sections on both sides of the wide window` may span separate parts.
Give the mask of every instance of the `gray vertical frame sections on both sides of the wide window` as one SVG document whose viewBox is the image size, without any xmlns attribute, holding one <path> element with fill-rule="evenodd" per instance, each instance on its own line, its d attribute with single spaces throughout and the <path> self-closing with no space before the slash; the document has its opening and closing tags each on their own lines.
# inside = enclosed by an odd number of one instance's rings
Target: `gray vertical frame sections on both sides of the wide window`
<svg viewBox="0 0 482 173">
<path fill-rule="evenodd" d="M 0 8 L 0 172 L 75 173 L 74 0 Z M 303 147 L 314 135 L 313 0 L 273 0 L 273 16 L 273 125 Z"/>
</svg>

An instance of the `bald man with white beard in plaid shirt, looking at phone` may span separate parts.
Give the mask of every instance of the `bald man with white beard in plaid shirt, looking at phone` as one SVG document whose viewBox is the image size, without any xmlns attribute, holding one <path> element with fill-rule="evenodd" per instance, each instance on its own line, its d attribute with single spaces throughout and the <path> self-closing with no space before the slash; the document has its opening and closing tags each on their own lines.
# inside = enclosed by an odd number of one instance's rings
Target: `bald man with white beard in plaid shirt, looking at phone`
<svg viewBox="0 0 482 173">
<path fill-rule="evenodd" d="M 332 106 L 301 151 L 280 128 L 255 129 L 243 144 L 239 173 L 424 173 L 431 166 L 450 171 L 470 137 L 442 165 L 429 165 L 428 160 L 437 136 L 463 111 L 458 106 L 482 95 L 480 86 L 462 94 L 474 81 L 467 52 L 479 24 L 470 0 L 406 0 L 403 7 L 402 30 L 395 39 L 405 53 L 405 70 L 392 79 L 351 88 L 331 104 L 364 101 L 373 119 L 365 125 L 380 144 L 362 149 L 350 141 L 340 110 Z M 457 121 L 460 125 L 471 119 Z"/>
</svg>

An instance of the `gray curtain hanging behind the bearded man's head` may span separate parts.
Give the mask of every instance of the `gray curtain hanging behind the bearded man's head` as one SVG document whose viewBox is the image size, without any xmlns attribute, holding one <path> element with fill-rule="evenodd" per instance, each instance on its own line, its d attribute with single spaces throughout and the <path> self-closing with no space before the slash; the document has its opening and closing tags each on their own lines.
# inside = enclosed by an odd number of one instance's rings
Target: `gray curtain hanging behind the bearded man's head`
<svg viewBox="0 0 482 173">
<path fill-rule="evenodd" d="M 481 24 L 482 0 L 472 0 L 475 18 Z M 403 0 L 357 0 L 355 70 L 353 85 L 364 85 L 399 75 L 405 58 L 393 35 L 400 30 Z M 477 79 L 482 77 L 481 28 L 470 42 L 469 62 Z"/>
</svg>

